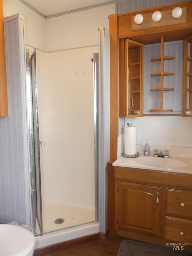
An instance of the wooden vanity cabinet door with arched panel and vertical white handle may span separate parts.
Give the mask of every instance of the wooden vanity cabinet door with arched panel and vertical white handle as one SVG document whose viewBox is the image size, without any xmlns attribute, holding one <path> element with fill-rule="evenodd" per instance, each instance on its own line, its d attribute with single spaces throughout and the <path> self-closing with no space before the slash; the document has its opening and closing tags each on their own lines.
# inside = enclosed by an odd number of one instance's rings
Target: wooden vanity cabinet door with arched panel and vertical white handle
<svg viewBox="0 0 192 256">
<path fill-rule="evenodd" d="M 118 181 L 116 229 L 159 237 L 161 200 L 161 187 Z"/>
</svg>

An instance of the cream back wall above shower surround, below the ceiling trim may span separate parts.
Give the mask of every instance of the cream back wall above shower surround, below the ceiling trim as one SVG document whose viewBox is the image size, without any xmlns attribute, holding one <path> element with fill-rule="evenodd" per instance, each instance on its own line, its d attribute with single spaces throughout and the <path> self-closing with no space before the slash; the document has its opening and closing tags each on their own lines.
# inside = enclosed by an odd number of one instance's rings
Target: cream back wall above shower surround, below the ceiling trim
<svg viewBox="0 0 192 256">
<path fill-rule="evenodd" d="M 98 29 L 109 29 L 109 15 L 115 5 L 106 5 L 46 19 L 47 51 L 98 44 Z"/>
</svg>

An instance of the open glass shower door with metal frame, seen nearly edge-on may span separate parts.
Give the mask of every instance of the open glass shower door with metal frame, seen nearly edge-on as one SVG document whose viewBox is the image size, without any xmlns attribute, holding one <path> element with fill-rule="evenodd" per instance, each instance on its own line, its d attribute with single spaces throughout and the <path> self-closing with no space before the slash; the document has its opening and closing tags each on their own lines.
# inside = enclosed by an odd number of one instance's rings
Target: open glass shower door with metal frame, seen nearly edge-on
<svg viewBox="0 0 192 256">
<path fill-rule="evenodd" d="M 37 90 L 37 66 L 36 49 L 27 56 L 27 76 L 30 81 L 31 94 L 31 117 L 30 117 L 30 157 L 31 157 L 31 189 L 32 189 L 32 215 L 33 228 L 36 235 L 43 234 L 42 227 L 42 202 L 41 202 L 41 166 L 40 166 L 40 147 L 43 143 L 39 140 L 39 119 L 38 119 L 38 90 Z"/>
</svg>

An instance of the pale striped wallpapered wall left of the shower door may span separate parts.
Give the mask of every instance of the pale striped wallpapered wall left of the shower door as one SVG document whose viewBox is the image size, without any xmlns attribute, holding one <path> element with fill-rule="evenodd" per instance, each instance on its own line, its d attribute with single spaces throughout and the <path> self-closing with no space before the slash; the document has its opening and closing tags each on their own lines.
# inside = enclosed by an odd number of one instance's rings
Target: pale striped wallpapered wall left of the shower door
<svg viewBox="0 0 192 256">
<path fill-rule="evenodd" d="M 24 20 L 4 19 L 9 117 L 0 118 L 0 222 L 30 224 Z"/>
</svg>

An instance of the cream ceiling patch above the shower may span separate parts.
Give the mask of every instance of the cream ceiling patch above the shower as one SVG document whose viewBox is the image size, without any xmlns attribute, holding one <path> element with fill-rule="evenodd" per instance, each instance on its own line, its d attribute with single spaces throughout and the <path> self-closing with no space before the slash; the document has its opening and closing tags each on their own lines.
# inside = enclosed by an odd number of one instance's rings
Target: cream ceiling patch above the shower
<svg viewBox="0 0 192 256">
<path fill-rule="evenodd" d="M 42 16 L 50 16 L 63 12 L 72 12 L 72 10 L 87 8 L 93 5 L 106 5 L 107 2 L 115 3 L 112 0 L 19 0 L 26 4 L 29 8 L 43 14 Z"/>
</svg>

